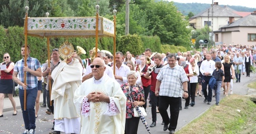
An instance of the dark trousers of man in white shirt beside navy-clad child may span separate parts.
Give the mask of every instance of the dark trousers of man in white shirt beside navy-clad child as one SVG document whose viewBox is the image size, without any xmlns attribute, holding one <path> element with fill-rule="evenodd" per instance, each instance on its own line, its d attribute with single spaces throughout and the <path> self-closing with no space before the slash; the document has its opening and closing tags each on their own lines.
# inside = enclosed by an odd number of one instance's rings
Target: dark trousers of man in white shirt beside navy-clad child
<svg viewBox="0 0 256 134">
<path fill-rule="evenodd" d="M 204 98 L 207 99 L 208 102 L 212 101 L 213 89 L 210 88 L 209 81 L 212 76 L 203 76 L 202 77 L 202 90 L 204 92 Z M 207 85 L 208 85 L 208 94 L 207 94 Z"/>
</svg>

